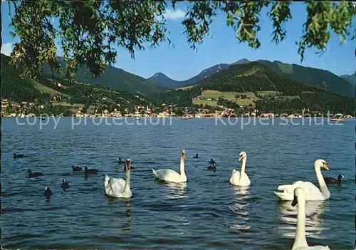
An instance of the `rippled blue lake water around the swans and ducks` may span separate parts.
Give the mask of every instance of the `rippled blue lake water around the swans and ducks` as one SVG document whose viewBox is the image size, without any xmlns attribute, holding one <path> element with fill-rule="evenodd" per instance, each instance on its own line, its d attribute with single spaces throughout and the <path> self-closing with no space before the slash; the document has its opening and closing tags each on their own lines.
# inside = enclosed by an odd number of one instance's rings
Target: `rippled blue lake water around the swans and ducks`
<svg viewBox="0 0 356 250">
<path fill-rule="evenodd" d="M 276 119 L 275 125 L 241 129 L 241 122 L 216 125 L 214 119 L 172 119 L 170 125 L 169 119 L 164 125 L 162 119 L 157 125 L 108 125 L 110 119 L 85 125 L 75 119 L 72 128 L 72 118 L 61 118 L 56 129 L 51 119 L 41 129 L 39 120 L 18 125 L 15 118 L 2 119 L 4 248 L 290 249 L 296 207 L 278 202 L 273 190 L 296 180 L 316 183 L 316 158 L 328 162 L 324 177 L 342 172 L 345 179 L 329 185 L 327 201 L 307 203 L 308 244 L 355 247 L 355 120 L 281 125 Z M 181 148 L 187 154 L 187 184 L 155 181 L 151 168 L 179 171 Z M 241 168 L 237 159 L 243 150 L 251 179 L 247 189 L 229 184 L 232 170 Z M 14 152 L 28 157 L 14 160 Z M 193 159 L 196 153 L 199 159 Z M 130 157 L 135 167 L 130 201 L 104 193 L 105 174 L 125 178 L 117 157 Z M 206 171 L 210 158 L 216 172 Z M 73 173 L 72 165 L 100 172 L 85 177 Z M 45 175 L 28 179 L 28 169 Z M 66 192 L 63 178 L 71 184 Z M 46 186 L 53 191 L 49 201 L 43 196 Z"/>
</svg>

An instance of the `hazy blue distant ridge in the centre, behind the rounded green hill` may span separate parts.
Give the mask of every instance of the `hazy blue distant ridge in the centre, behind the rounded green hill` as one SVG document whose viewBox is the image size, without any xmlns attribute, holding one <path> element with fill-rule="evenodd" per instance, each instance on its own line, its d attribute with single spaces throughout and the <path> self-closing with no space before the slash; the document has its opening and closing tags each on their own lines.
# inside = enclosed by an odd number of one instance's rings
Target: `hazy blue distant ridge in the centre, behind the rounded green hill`
<svg viewBox="0 0 356 250">
<path fill-rule="evenodd" d="M 204 69 L 198 75 L 195 75 L 194 77 L 189 78 L 188 80 L 173 80 L 169 78 L 167 75 L 164 75 L 164 73 L 160 73 L 160 72 L 155 73 L 155 75 L 152 75 L 152 77 L 147 78 L 147 80 L 153 83 L 158 83 L 160 85 L 163 85 L 166 88 L 181 88 L 187 85 L 192 85 L 194 83 L 197 83 L 199 80 L 208 78 L 211 75 L 218 73 L 219 71 L 224 71 L 226 68 L 229 68 L 231 65 L 242 64 L 242 63 L 249 63 L 249 61 L 246 58 L 244 58 L 231 64 L 226 64 L 226 63 L 216 64 L 210 68 Z"/>
</svg>

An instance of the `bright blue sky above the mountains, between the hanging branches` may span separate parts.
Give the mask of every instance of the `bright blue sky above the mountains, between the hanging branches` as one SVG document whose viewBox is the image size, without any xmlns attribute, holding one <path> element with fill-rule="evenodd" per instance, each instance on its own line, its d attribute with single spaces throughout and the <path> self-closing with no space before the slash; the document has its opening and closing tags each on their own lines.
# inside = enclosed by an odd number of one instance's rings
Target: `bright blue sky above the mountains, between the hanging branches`
<svg viewBox="0 0 356 250">
<path fill-rule="evenodd" d="M 258 38 L 261 47 L 258 49 L 249 48 L 245 43 L 239 43 L 234 29 L 226 26 L 226 16 L 216 16 L 211 24 L 211 37 L 207 36 L 204 43 L 198 47 L 198 51 L 189 48 L 187 38 L 184 36 L 184 26 L 181 24 L 186 11 L 186 4 L 177 4 L 176 11 L 172 10 L 168 4 L 166 13 L 168 35 L 173 46 L 162 43 L 159 48 L 146 48 L 145 51 L 137 51 L 135 59 L 130 57 L 130 53 L 123 48 L 117 48 L 117 62 L 115 67 L 125 71 L 148 78 L 157 72 L 162 72 L 174 80 L 186 80 L 200 73 L 204 68 L 209 68 L 218 63 L 233 63 L 241 58 L 250 61 L 266 59 L 269 61 L 282 61 L 283 63 L 297 63 L 302 66 L 313 68 L 323 68 L 337 75 L 355 73 L 356 41 L 347 40 L 340 45 L 340 38 L 332 35 L 328 43 L 328 48 L 321 56 L 315 54 L 313 48 L 305 52 L 305 59 L 300 63 L 298 47 L 295 45 L 303 35 L 303 23 L 306 20 L 306 5 L 304 3 L 293 2 L 291 4 L 292 19 L 286 24 L 287 36 L 285 40 L 277 46 L 271 43 L 271 32 L 273 31 L 271 21 L 266 16 L 267 11 L 261 13 L 261 31 Z M 1 53 L 11 52 L 11 43 L 19 41 L 13 38 L 9 28 L 9 8 L 4 1 L 1 5 L 2 21 L 2 43 Z M 356 18 L 353 26 L 355 27 Z"/>
</svg>

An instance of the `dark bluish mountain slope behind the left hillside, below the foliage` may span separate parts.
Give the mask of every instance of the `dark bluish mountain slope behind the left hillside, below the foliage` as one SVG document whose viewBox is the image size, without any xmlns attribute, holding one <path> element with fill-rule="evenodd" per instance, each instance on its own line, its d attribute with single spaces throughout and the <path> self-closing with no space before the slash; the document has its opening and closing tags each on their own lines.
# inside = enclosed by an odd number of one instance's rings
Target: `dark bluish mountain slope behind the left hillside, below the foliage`
<svg viewBox="0 0 356 250">
<path fill-rule="evenodd" d="M 61 67 L 65 68 L 66 62 L 59 58 Z M 51 75 L 48 65 L 43 66 L 43 73 Z M 57 77 L 60 75 L 56 75 Z M 127 91 L 128 93 L 139 93 L 141 95 L 151 96 L 155 93 L 162 92 L 167 88 L 147 81 L 141 76 L 134 75 L 121 68 L 106 66 L 105 73 L 98 78 L 93 78 L 89 69 L 84 66 L 78 66 L 78 71 L 74 77 L 75 80 L 81 83 L 89 83 L 91 85 L 102 85 L 113 90 Z"/>
</svg>

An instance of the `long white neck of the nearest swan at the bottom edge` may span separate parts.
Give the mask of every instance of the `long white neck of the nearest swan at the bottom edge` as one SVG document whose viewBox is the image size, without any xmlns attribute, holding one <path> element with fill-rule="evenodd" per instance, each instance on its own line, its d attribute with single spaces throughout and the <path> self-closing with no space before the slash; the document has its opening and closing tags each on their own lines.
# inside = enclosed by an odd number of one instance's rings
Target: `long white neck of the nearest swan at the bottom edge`
<svg viewBox="0 0 356 250">
<path fill-rule="evenodd" d="M 301 197 L 301 195 L 299 195 L 297 199 L 297 233 L 295 234 L 295 240 L 292 249 L 300 246 L 308 246 L 307 239 L 305 238 L 305 197 Z"/>
</svg>

